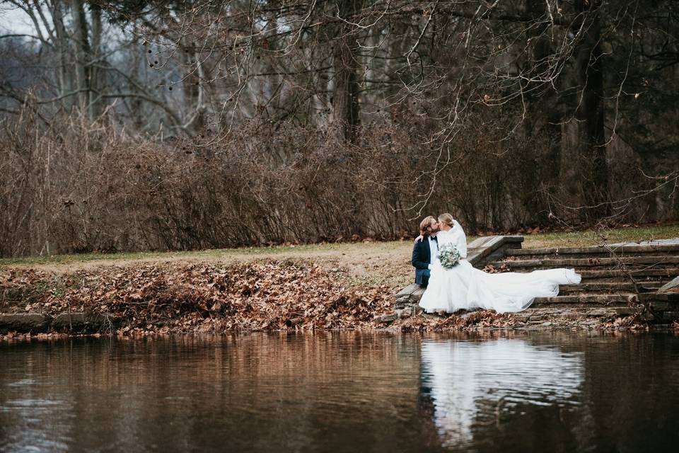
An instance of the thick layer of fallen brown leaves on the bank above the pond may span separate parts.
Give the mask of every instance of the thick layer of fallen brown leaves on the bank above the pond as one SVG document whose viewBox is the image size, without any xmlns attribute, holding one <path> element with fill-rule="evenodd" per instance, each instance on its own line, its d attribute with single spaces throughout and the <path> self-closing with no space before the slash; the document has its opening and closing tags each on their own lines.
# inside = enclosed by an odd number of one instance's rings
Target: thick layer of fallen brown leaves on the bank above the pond
<svg viewBox="0 0 679 453">
<path fill-rule="evenodd" d="M 66 275 L 3 270 L 0 291 L 2 311 L 112 314 L 121 335 L 384 328 L 373 317 L 392 311 L 393 290 L 347 285 L 341 273 L 273 260 L 115 266 Z M 16 302 L 8 302 L 8 294 Z M 390 328 L 450 331 L 511 324 L 509 315 L 480 311 L 465 317 L 414 316 Z"/>
</svg>

